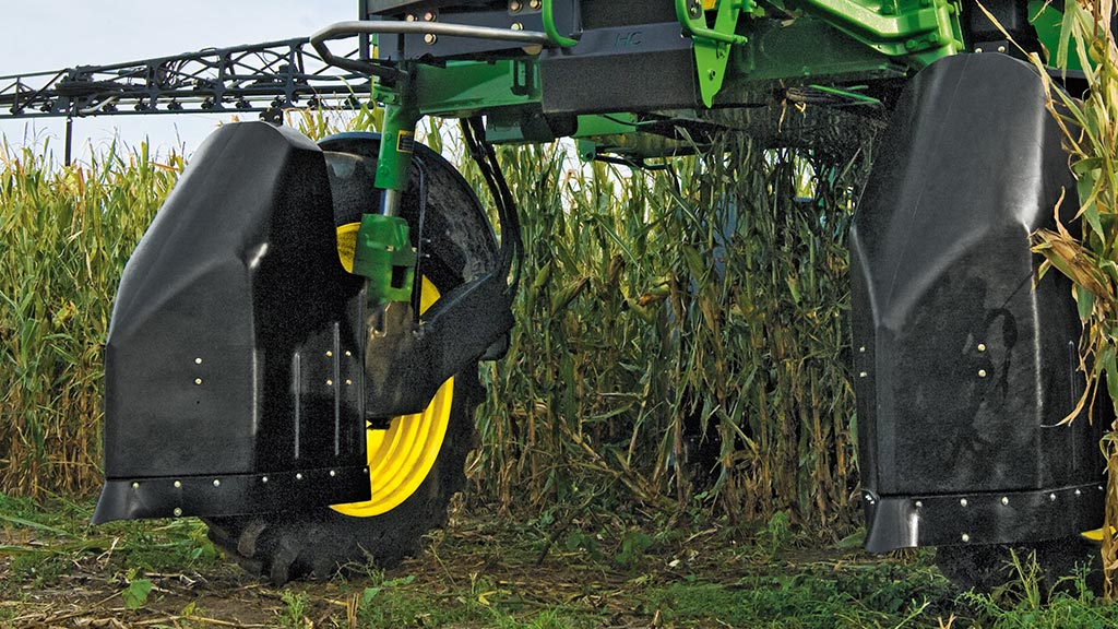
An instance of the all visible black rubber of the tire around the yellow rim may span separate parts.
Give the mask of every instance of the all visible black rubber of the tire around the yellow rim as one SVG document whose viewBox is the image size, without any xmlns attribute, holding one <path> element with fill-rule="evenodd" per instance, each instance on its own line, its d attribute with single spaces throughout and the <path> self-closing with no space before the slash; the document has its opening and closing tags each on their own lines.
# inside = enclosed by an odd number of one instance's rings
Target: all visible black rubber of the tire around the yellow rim
<svg viewBox="0 0 1118 629">
<path fill-rule="evenodd" d="M 330 170 L 335 225 L 358 222 L 362 213 L 376 210 L 379 143 L 379 137 L 353 133 L 321 143 L 328 162 L 345 166 Z M 445 292 L 476 275 L 479 269 L 493 267 L 496 244 L 481 204 L 462 176 L 427 147 L 416 144 L 415 150 L 418 167 L 411 169 L 401 216 L 419 224 L 424 207 L 420 182 L 425 181 L 426 233 L 438 237 L 426 244 L 419 272 Z M 482 398 L 476 366 L 463 369 L 454 383 L 449 423 L 434 466 L 418 489 L 396 508 L 375 517 L 353 517 L 329 507 L 293 505 L 292 509 L 299 510 L 212 517 L 206 518 L 209 538 L 246 571 L 275 584 L 309 575 L 329 579 L 340 569 L 369 564 L 389 567 L 416 553 L 421 537 L 446 523 L 447 505 L 465 482 L 474 410 Z"/>
</svg>

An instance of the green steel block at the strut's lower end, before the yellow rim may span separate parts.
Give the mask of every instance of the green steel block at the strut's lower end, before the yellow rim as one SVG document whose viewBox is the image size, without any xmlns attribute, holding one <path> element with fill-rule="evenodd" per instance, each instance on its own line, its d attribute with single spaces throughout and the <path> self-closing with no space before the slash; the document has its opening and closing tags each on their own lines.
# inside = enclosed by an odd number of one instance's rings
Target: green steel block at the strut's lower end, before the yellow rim
<svg viewBox="0 0 1118 629">
<path fill-rule="evenodd" d="M 399 216 L 366 214 L 357 233 L 353 273 L 366 278 L 370 304 L 411 300 L 416 252 L 408 240 L 408 223 Z"/>
</svg>

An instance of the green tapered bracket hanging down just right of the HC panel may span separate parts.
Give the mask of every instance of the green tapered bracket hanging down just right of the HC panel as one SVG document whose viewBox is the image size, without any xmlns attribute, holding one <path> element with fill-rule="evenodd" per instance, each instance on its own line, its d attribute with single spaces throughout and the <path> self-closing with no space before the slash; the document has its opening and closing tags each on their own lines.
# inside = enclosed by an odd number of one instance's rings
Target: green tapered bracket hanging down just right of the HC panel
<svg viewBox="0 0 1118 629">
<path fill-rule="evenodd" d="M 730 47 L 749 41 L 735 32 L 738 17 L 742 11 L 757 10 L 757 3 L 752 0 L 720 0 L 714 10 L 714 27 L 711 28 L 701 0 L 675 0 L 675 17 L 683 32 L 691 37 L 699 71 L 699 92 L 708 107 L 713 106 L 714 95 L 722 90 Z"/>
</svg>

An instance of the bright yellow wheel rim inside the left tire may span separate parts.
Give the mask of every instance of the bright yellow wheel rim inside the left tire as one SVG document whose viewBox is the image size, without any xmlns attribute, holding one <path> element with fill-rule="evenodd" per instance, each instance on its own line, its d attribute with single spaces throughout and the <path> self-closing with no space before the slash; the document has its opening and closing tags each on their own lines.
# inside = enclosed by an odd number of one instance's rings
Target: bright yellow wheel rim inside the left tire
<svg viewBox="0 0 1118 629">
<path fill-rule="evenodd" d="M 424 278 L 419 311 L 425 312 L 438 297 L 435 284 Z M 372 499 L 333 505 L 331 508 L 354 517 L 379 516 L 400 506 L 415 494 L 443 448 L 446 426 L 451 423 L 453 401 L 454 378 L 449 378 L 435 393 L 423 413 L 394 417 L 388 430 L 366 431 Z"/>
</svg>

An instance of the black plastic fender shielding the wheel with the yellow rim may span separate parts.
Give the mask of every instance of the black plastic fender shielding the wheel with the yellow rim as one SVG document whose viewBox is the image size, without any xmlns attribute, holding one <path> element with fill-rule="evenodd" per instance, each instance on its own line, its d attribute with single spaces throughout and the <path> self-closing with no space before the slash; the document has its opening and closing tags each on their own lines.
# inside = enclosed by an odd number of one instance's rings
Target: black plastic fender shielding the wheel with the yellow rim
<svg viewBox="0 0 1118 629">
<path fill-rule="evenodd" d="M 347 147 L 249 122 L 191 159 L 117 291 L 95 523 L 369 499 L 363 281 L 341 265 L 337 225 L 376 208 L 361 205 L 371 190 L 347 185 L 359 161 Z M 474 198 L 445 160 L 417 154 Z M 405 216 L 420 205 L 418 177 Z M 447 236 L 428 244 L 440 263 L 427 272 L 495 265 L 480 205 L 458 205 L 426 201 L 427 227 Z"/>
</svg>

